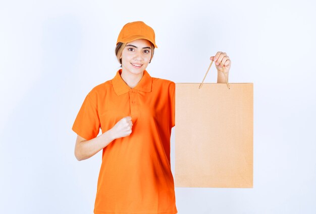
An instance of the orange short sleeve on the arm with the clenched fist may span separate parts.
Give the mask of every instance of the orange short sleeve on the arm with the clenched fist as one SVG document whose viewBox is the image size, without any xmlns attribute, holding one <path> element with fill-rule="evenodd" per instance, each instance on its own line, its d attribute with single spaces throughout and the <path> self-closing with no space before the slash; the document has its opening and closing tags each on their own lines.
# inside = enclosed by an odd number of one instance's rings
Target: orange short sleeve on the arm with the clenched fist
<svg viewBox="0 0 316 214">
<path fill-rule="evenodd" d="M 96 137 L 100 130 L 100 119 L 96 106 L 97 97 L 90 92 L 84 99 L 72 126 L 74 132 L 87 140 Z"/>
</svg>

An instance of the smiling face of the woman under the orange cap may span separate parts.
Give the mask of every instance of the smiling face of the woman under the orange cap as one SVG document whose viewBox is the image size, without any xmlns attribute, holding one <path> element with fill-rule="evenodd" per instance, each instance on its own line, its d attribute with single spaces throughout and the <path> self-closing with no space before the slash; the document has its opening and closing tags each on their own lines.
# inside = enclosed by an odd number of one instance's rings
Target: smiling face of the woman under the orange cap
<svg viewBox="0 0 316 214">
<path fill-rule="evenodd" d="M 137 39 L 126 44 L 121 57 L 123 72 L 135 75 L 143 73 L 151 57 L 150 44 L 146 39 Z"/>
</svg>

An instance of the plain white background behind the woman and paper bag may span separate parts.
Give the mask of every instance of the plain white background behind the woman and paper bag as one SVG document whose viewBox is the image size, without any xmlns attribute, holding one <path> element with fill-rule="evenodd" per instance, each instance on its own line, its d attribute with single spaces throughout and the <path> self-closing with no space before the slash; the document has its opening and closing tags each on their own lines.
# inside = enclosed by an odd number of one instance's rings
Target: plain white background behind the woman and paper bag
<svg viewBox="0 0 316 214">
<path fill-rule="evenodd" d="M 314 1 L 1 1 L 0 213 L 92 213 L 101 152 L 74 156 L 87 93 L 124 24 L 156 34 L 152 77 L 199 83 L 209 57 L 254 84 L 253 188 L 176 188 L 179 214 L 315 213 Z M 215 66 L 205 82 L 215 83 Z M 171 141 L 174 172 L 174 129 Z"/>
</svg>

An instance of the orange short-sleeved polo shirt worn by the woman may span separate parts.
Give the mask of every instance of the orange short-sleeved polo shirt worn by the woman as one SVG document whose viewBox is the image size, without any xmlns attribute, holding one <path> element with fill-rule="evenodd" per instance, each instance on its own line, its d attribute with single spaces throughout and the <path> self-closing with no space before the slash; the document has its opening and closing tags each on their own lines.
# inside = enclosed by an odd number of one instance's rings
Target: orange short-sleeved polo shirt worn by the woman
<svg viewBox="0 0 316 214">
<path fill-rule="evenodd" d="M 177 213 L 170 167 L 170 135 L 175 126 L 175 83 L 152 78 L 144 70 L 136 87 L 121 78 L 122 69 L 86 96 L 72 129 L 89 140 L 131 116 L 129 136 L 102 151 L 95 214 Z"/>
</svg>

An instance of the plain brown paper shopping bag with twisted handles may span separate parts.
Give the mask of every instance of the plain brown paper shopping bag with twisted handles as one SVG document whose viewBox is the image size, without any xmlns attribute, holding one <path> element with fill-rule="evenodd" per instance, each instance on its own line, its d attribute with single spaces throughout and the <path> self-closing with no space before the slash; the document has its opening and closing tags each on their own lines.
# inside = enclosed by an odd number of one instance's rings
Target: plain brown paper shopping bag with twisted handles
<svg viewBox="0 0 316 214">
<path fill-rule="evenodd" d="M 175 186 L 252 188 L 253 84 L 176 83 L 175 109 Z"/>
</svg>

